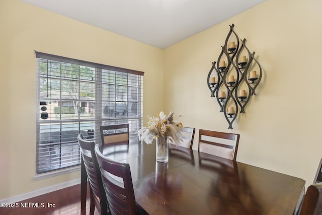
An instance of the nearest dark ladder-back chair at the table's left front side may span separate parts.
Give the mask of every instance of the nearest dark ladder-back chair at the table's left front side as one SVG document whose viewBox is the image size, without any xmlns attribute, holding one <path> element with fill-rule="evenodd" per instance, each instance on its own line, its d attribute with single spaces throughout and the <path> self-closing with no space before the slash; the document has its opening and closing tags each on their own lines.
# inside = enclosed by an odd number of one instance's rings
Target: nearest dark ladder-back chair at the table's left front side
<svg viewBox="0 0 322 215">
<path fill-rule="evenodd" d="M 106 158 L 98 145 L 95 153 L 112 214 L 137 214 L 130 165 Z"/>
</svg>

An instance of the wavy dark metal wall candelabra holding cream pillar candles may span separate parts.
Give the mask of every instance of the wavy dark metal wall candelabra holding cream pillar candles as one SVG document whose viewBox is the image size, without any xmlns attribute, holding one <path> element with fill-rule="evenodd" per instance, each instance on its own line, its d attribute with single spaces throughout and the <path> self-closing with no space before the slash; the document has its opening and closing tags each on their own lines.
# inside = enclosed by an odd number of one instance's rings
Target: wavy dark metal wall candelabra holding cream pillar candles
<svg viewBox="0 0 322 215">
<path fill-rule="evenodd" d="M 255 52 L 251 53 L 246 47 L 246 39 L 239 42 L 233 27 L 234 24 L 230 26 L 224 46 L 221 46 L 222 51 L 217 61 L 219 64 L 212 62 L 207 78 L 211 97 L 216 97 L 229 129 L 232 129 L 232 123 L 237 117 L 238 107 L 240 113 L 245 113 L 250 97 L 256 95 L 255 90 L 263 73 L 261 65 L 255 59 Z"/>
</svg>

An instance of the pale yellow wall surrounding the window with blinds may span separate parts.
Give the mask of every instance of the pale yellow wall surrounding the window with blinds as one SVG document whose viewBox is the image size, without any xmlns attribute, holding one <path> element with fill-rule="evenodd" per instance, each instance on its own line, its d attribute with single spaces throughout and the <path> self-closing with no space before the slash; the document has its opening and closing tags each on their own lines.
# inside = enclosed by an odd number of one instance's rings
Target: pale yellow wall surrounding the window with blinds
<svg viewBox="0 0 322 215">
<path fill-rule="evenodd" d="M 152 115 L 163 106 L 162 49 L 18 0 L 0 1 L 0 32 L 0 199 L 79 178 L 78 171 L 33 179 L 37 107 L 34 50 L 144 71 L 143 99 L 153 100 L 144 103 L 144 115 Z"/>
</svg>

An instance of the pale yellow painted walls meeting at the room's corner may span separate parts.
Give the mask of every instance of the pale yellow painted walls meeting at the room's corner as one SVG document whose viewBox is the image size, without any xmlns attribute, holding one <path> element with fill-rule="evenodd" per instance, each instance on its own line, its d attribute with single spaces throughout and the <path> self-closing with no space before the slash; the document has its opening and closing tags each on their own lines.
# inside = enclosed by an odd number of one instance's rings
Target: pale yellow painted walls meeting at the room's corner
<svg viewBox="0 0 322 215">
<path fill-rule="evenodd" d="M 144 71 L 144 124 L 145 116 L 160 110 L 183 114 L 184 125 L 197 128 L 194 149 L 199 128 L 240 133 L 238 161 L 309 184 L 322 157 L 321 6 L 319 0 L 267 0 L 161 50 L 18 0 L 0 1 L 0 199 L 79 177 L 74 172 L 33 180 L 34 50 Z M 232 23 L 256 52 L 264 76 L 247 113 L 229 130 L 206 78 Z"/>
</svg>

